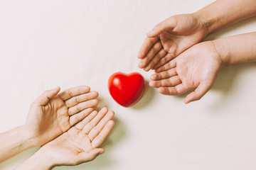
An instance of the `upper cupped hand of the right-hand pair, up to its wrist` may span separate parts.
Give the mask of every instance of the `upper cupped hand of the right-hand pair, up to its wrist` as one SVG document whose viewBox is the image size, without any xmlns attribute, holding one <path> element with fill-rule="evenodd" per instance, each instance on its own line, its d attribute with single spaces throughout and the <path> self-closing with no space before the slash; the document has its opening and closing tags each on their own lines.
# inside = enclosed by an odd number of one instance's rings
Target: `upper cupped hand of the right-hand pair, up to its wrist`
<svg viewBox="0 0 256 170">
<path fill-rule="evenodd" d="M 156 69 L 201 42 L 207 34 L 208 30 L 196 14 L 166 18 L 146 34 L 138 54 L 139 67 L 146 72 Z"/>
</svg>

